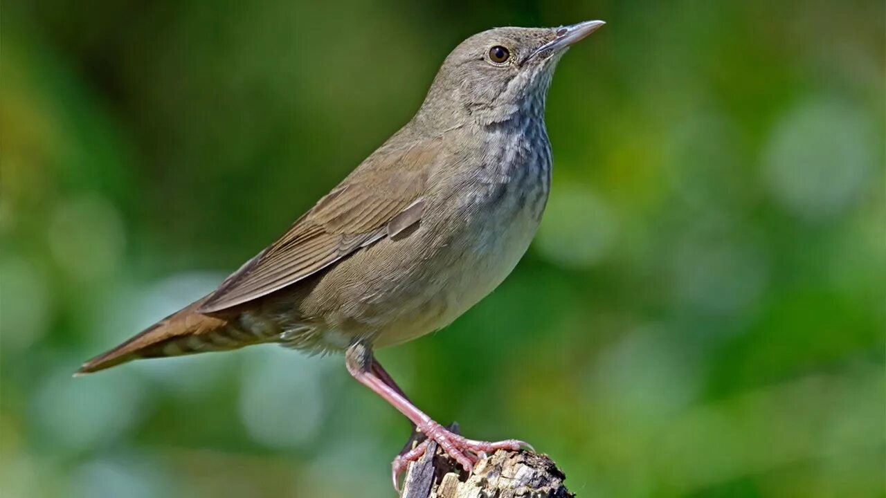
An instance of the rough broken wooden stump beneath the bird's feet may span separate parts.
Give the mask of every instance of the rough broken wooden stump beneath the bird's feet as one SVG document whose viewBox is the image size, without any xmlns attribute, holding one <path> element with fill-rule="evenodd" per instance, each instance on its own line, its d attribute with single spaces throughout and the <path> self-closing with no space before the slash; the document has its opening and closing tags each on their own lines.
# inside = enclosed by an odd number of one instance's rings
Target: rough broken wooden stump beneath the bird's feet
<svg viewBox="0 0 886 498">
<path fill-rule="evenodd" d="M 574 498 L 564 479 L 548 455 L 525 450 L 496 451 L 480 459 L 469 476 L 431 442 L 409 465 L 400 498 Z"/>
</svg>

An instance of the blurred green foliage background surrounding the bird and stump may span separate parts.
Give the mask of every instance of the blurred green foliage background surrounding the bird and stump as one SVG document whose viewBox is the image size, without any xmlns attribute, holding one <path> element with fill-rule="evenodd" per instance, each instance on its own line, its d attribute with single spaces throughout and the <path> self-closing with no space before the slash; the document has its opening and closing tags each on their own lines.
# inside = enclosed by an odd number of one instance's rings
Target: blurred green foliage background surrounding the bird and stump
<svg viewBox="0 0 886 498">
<path fill-rule="evenodd" d="M 71 373 L 273 241 L 463 38 L 583 19 L 532 248 L 381 361 L 581 497 L 886 495 L 882 0 L 41 0 L 2 19 L 4 498 L 391 496 L 408 424 L 341 357 Z"/>
</svg>

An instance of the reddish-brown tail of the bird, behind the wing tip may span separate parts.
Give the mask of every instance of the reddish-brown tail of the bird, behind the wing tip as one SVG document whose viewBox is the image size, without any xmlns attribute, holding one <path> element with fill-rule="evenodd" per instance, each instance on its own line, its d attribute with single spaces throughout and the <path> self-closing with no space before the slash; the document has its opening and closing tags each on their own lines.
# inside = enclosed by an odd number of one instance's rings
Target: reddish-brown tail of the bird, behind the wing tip
<svg viewBox="0 0 886 498">
<path fill-rule="evenodd" d="M 198 313 L 203 301 L 167 316 L 120 346 L 83 363 L 75 375 L 110 369 L 138 358 L 226 351 L 268 340 L 242 327 L 237 315 L 226 318 Z"/>
</svg>

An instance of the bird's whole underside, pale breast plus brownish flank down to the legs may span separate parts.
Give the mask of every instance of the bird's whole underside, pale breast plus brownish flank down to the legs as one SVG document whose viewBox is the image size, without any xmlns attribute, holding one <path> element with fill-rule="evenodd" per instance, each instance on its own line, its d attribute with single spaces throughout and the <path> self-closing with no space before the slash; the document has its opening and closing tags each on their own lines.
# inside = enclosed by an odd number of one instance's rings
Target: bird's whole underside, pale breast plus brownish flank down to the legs
<svg viewBox="0 0 886 498">
<path fill-rule="evenodd" d="M 391 346 L 435 331 L 509 275 L 548 199 L 548 137 L 536 121 L 492 130 L 484 140 L 427 200 L 414 233 L 379 240 L 323 276 L 302 307 L 320 319 L 315 348 L 339 349 L 343 338 L 360 336 Z"/>
</svg>

